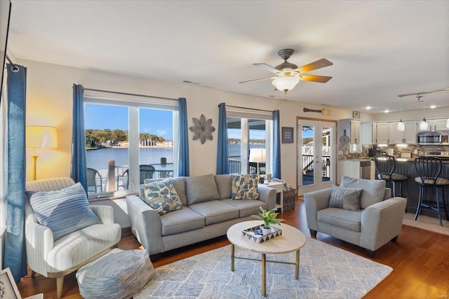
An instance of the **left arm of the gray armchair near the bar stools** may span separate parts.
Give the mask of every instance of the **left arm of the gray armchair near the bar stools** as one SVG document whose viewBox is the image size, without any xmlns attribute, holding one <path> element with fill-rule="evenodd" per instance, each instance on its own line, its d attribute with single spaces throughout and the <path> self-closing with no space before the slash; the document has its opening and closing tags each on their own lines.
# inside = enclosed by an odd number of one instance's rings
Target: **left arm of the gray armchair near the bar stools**
<svg viewBox="0 0 449 299">
<path fill-rule="evenodd" d="M 329 199 L 330 188 L 304 194 L 307 227 L 310 230 L 318 231 L 317 213 L 319 210 L 326 209 L 329 206 Z"/>
</svg>

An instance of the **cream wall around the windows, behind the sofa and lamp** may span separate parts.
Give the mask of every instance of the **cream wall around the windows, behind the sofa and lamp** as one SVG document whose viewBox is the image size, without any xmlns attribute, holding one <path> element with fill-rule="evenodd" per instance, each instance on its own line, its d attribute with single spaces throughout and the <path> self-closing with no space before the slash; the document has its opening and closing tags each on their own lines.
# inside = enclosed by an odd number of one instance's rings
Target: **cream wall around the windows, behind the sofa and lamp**
<svg viewBox="0 0 449 299">
<path fill-rule="evenodd" d="M 72 84 L 84 88 L 130 92 L 159 97 L 185 97 L 189 125 L 192 118 L 201 113 L 212 118 L 217 128 L 217 105 L 246 106 L 249 108 L 279 109 L 281 127 L 296 127 L 297 116 L 338 120 L 351 118 L 352 111 L 331 108 L 330 116 L 320 113 L 304 113 L 302 109 L 322 109 L 322 106 L 254 97 L 235 92 L 203 88 L 185 83 L 168 83 L 149 78 L 137 78 L 120 74 L 109 74 L 95 70 L 64 67 L 56 64 L 18 61 L 27 67 L 27 125 L 51 125 L 58 129 L 58 148 L 54 151 L 41 151 L 37 164 L 37 179 L 56 176 L 69 176 L 72 142 Z M 298 88 L 298 87 L 297 87 Z M 288 95 L 287 95 L 288 97 Z M 370 114 L 361 113 L 362 120 L 371 120 Z M 217 153 L 217 131 L 214 140 L 201 144 L 192 140 L 189 132 L 190 175 L 215 173 Z M 295 130 L 295 135 L 297 134 Z M 295 142 L 297 138 L 295 137 Z M 27 180 L 31 179 L 31 153 L 27 152 Z M 296 144 L 281 144 L 282 179 L 295 186 L 296 182 Z"/>
</svg>

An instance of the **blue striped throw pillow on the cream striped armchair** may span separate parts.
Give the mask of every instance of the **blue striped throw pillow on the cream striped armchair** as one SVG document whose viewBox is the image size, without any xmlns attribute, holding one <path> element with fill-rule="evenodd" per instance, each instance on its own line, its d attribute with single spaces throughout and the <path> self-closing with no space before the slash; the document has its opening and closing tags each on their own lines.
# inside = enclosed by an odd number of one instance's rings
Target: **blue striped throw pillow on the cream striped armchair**
<svg viewBox="0 0 449 299">
<path fill-rule="evenodd" d="M 51 229 L 54 240 L 100 223 L 81 183 L 57 191 L 27 192 L 27 197 L 37 222 Z"/>
</svg>

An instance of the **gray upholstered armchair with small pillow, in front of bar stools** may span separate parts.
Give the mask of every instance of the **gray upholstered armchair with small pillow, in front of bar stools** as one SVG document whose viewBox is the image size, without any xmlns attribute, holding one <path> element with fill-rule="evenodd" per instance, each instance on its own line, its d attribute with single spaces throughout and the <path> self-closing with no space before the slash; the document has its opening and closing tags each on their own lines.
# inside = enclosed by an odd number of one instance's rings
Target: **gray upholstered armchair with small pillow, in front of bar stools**
<svg viewBox="0 0 449 299">
<path fill-rule="evenodd" d="M 407 200 L 391 197 L 385 181 L 343 176 L 341 187 L 362 188 L 361 209 L 329 207 L 331 188 L 304 194 L 307 226 L 311 236 L 323 232 L 366 249 L 370 257 L 387 242 L 396 241 L 402 229 Z"/>
</svg>

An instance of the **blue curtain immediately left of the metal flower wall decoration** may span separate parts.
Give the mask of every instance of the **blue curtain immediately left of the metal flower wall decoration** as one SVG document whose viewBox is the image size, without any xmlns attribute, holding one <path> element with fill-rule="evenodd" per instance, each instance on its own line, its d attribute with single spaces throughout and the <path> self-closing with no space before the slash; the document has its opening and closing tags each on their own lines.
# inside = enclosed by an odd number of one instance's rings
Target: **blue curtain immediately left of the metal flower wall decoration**
<svg viewBox="0 0 449 299">
<path fill-rule="evenodd" d="M 177 176 L 189 176 L 189 130 L 187 127 L 187 103 L 184 97 L 180 97 L 177 102 L 180 109 L 180 147 L 177 159 Z"/>
</svg>

